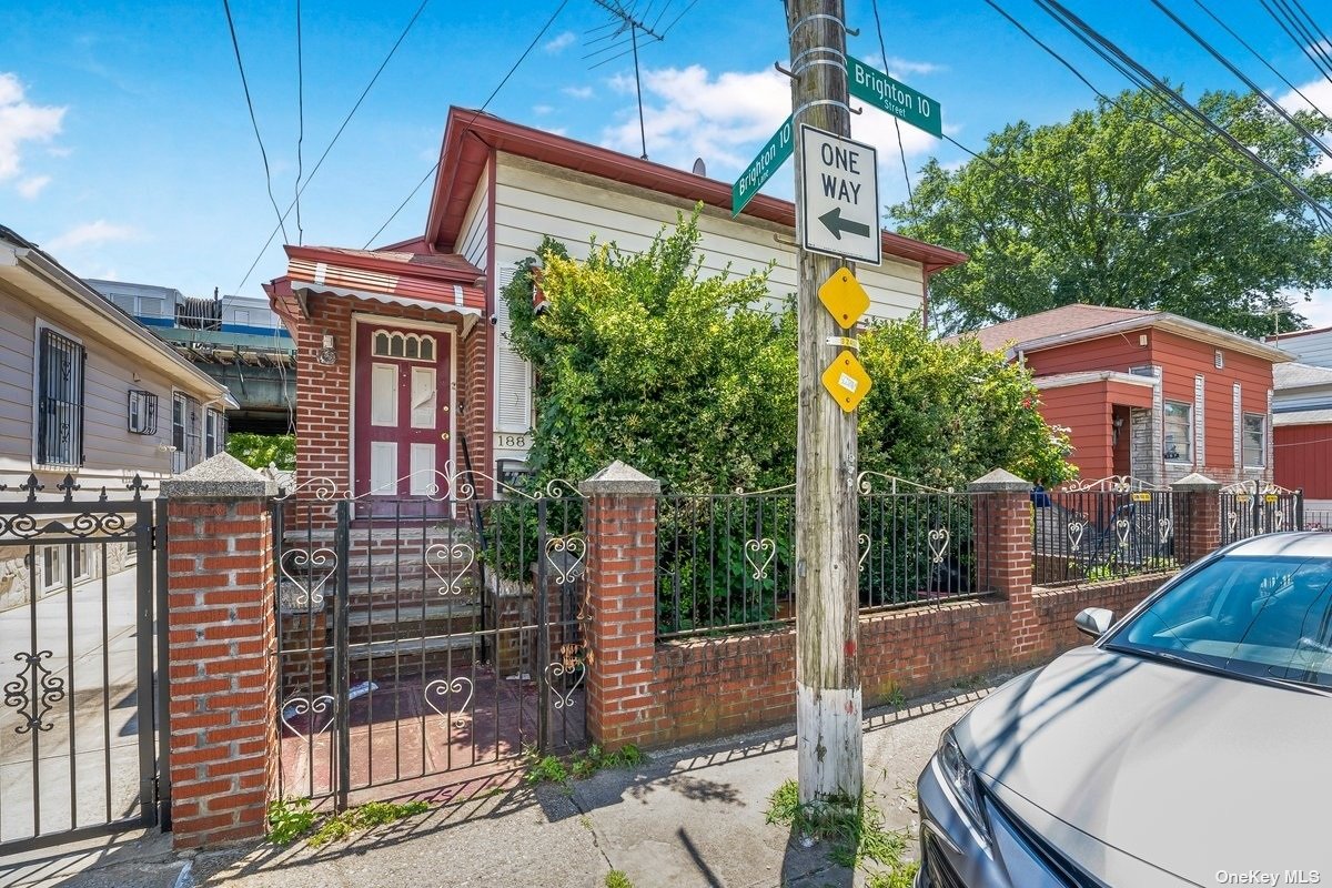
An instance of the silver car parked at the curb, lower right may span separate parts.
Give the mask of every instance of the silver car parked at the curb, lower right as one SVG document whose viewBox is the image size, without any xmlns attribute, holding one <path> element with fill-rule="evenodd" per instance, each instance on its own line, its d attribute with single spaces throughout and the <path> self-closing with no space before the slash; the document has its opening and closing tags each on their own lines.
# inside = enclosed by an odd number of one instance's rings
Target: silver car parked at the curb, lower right
<svg viewBox="0 0 1332 888">
<path fill-rule="evenodd" d="M 918 888 L 1332 885 L 1332 534 L 1191 566 L 944 731 Z"/>
</svg>

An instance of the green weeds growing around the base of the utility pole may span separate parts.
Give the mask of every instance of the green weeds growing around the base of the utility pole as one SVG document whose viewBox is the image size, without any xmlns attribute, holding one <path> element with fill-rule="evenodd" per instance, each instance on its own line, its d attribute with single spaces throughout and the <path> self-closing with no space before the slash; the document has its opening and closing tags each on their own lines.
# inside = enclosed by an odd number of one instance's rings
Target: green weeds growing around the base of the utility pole
<svg viewBox="0 0 1332 888">
<path fill-rule="evenodd" d="M 767 821 L 790 827 L 831 845 L 829 860 L 860 868 L 870 875 L 868 888 L 911 885 L 916 864 L 902 860 L 907 849 L 904 832 L 883 828 L 883 815 L 864 800 L 830 800 L 802 804 L 795 780 L 787 780 L 769 796 Z"/>
</svg>

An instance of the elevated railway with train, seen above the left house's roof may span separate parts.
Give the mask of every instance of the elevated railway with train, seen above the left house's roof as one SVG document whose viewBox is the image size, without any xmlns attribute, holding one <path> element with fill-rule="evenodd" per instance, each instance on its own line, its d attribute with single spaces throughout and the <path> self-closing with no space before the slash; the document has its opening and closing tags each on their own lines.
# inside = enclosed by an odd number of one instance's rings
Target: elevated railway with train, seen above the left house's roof
<svg viewBox="0 0 1332 888">
<path fill-rule="evenodd" d="M 228 430 L 292 431 L 296 355 L 266 297 L 190 298 L 156 284 L 85 282 L 228 387 L 238 405 L 226 413 Z"/>
</svg>

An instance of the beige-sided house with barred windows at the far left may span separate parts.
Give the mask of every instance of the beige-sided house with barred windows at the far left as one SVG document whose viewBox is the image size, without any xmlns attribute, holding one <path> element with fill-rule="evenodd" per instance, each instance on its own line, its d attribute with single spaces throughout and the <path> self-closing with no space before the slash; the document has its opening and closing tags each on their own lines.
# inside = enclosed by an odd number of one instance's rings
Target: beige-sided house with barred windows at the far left
<svg viewBox="0 0 1332 888">
<path fill-rule="evenodd" d="M 136 474 L 156 489 L 222 450 L 229 406 L 224 386 L 0 225 L 0 498 L 31 474 L 45 493 L 67 474 L 81 495 L 129 497 Z M 0 546 L 0 610 L 27 600 L 25 556 Z M 39 594 L 91 579 L 95 562 L 77 546 L 39 547 Z"/>
</svg>

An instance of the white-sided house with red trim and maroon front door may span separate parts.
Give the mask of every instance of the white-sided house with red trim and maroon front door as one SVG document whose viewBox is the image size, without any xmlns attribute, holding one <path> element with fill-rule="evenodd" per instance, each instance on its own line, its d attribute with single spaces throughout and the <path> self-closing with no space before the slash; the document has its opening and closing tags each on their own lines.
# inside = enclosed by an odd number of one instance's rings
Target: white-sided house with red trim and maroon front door
<svg viewBox="0 0 1332 888">
<path fill-rule="evenodd" d="M 775 262 L 773 297 L 793 293 L 794 206 L 761 194 L 733 218 L 730 201 L 727 182 L 453 108 L 421 237 L 289 245 L 265 288 L 298 346 L 298 477 L 421 497 L 450 466 L 482 482 L 521 471 L 533 379 L 500 297 L 515 266 L 546 234 L 575 258 L 593 238 L 645 249 L 701 202 L 705 274 Z M 930 274 L 964 258 L 886 233 L 883 264 L 858 268 L 870 317 L 919 312 Z"/>
</svg>

